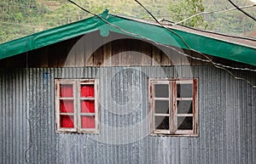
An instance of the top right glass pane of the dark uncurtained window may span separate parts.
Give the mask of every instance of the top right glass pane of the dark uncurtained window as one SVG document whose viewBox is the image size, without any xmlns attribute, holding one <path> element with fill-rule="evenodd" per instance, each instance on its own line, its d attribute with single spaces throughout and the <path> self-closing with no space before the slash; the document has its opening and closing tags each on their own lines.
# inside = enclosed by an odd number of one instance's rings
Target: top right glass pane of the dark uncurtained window
<svg viewBox="0 0 256 164">
<path fill-rule="evenodd" d="M 177 98 L 192 98 L 193 85 L 192 84 L 177 84 Z"/>
</svg>

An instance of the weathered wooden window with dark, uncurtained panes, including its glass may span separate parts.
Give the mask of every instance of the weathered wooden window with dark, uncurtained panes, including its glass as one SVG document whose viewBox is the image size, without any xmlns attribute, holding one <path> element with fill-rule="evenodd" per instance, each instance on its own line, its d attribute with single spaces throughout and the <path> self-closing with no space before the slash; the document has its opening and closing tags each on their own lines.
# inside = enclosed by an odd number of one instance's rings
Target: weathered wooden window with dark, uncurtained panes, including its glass
<svg viewBox="0 0 256 164">
<path fill-rule="evenodd" d="M 198 135 L 197 79 L 149 79 L 154 134 Z"/>
</svg>

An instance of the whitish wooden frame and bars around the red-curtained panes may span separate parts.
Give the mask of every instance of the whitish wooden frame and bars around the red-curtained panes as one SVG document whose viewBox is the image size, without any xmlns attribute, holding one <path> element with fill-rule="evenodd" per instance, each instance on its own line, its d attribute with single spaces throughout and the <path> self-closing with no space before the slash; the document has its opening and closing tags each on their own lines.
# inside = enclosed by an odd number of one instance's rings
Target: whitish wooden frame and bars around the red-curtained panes
<svg viewBox="0 0 256 164">
<path fill-rule="evenodd" d="M 73 85 L 73 98 L 61 98 L 61 84 Z M 81 85 L 94 85 L 94 97 L 83 98 Z M 100 110 L 99 110 L 99 80 L 98 79 L 55 79 L 55 132 L 56 133 L 100 133 Z M 73 113 L 61 113 L 60 100 L 73 100 Z M 94 100 L 94 113 L 81 113 L 81 100 Z M 61 115 L 73 116 L 73 128 L 61 127 Z M 81 116 L 95 116 L 95 128 L 82 128 Z"/>
</svg>

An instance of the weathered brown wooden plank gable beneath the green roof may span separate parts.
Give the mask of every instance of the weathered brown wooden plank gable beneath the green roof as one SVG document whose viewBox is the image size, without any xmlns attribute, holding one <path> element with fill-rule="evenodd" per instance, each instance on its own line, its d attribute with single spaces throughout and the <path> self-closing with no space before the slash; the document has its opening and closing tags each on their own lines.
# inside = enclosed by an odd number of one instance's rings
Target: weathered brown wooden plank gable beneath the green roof
<svg viewBox="0 0 256 164">
<path fill-rule="evenodd" d="M 117 35 L 110 33 L 108 37 L 102 37 L 99 32 L 91 32 L 8 59 L 1 59 L 0 67 L 212 65 L 211 62 L 201 61 L 207 58 L 218 63 L 239 65 L 236 62 L 230 63 L 227 59 L 208 55 L 206 57 L 182 48 L 174 50 L 171 47 L 134 38 L 118 39 L 121 37 Z"/>
</svg>

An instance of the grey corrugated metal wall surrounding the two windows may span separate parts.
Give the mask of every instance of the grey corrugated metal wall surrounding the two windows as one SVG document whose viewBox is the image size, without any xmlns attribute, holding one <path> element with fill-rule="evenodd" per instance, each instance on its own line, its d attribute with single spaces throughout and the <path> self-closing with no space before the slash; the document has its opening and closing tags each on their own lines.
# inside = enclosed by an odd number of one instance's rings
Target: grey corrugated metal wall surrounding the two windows
<svg viewBox="0 0 256 164">
<path fill-rule="evenodd" d="M 0 72 L 1 163 L 256 163 L 256 90 L 223 70 L 145 66 Z M 256 82 L 255 74 L 236 73 Z M 149 136 L 148 77 L 192 76 L 199 77 L 200 136 Z M 54 79 L 94 77 L 100 78 L 101 134 L 55 133 Z"/>
</svg>

